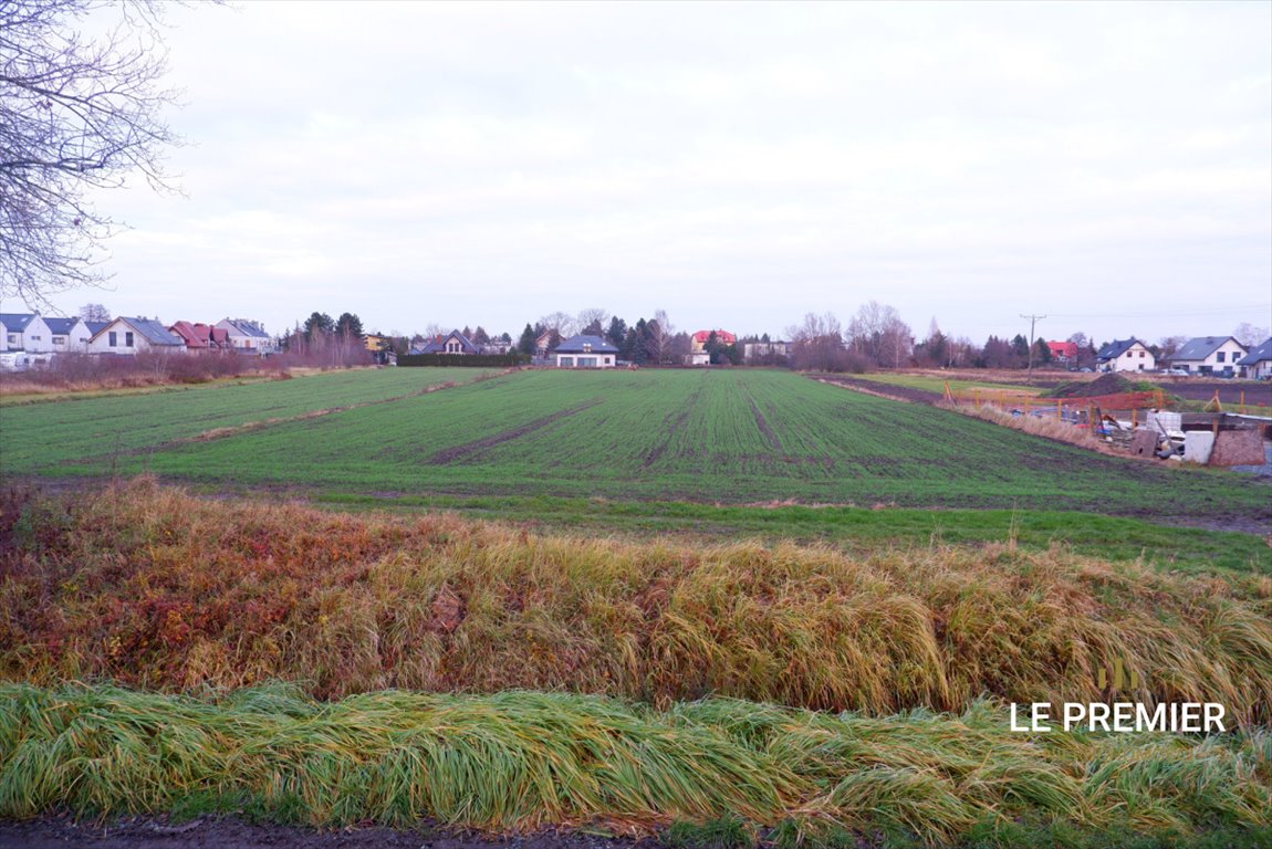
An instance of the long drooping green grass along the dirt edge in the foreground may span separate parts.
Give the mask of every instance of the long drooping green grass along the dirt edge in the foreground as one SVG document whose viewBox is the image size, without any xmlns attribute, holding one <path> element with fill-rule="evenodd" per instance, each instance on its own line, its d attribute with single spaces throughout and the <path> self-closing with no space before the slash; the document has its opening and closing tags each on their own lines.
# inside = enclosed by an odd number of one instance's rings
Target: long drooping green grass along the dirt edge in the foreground
<svg viewBox="0 0 1272 849">
<path fill-rule="evenodd" d="M 728 699 L 660 712 L 525 691 L 321 704 L 277 686 L 196 699 L 0 685 L 0 817 L 229 810 L 630 834 L 730 817 L 780 829 L 795 838 L 786 845 L 826 843 L 815 838 L 827 829 L 946 845 L 1021 820 L 1144 834 L 1272 825 L 1266 732 L 1006 726 L 983 702 L 962 716 L 865 718 Z"/>
</svg>

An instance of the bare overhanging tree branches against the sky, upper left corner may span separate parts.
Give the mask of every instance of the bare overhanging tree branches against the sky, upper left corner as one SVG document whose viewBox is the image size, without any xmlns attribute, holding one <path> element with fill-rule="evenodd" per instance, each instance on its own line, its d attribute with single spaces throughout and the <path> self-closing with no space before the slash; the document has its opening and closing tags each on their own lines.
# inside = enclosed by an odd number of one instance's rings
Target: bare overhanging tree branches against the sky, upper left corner
<svg viewBox="0 0 1272 849">
<path fill-rule="evenodd" d="M 130 174 L 164 182 L 165 53 L 155 0 L 0 3 L 0 295 L 28 306 L 102 282 L 118 222 L 86 194 Z M 113 24 L 94 39 L 93 28 Z"/>
</svg>

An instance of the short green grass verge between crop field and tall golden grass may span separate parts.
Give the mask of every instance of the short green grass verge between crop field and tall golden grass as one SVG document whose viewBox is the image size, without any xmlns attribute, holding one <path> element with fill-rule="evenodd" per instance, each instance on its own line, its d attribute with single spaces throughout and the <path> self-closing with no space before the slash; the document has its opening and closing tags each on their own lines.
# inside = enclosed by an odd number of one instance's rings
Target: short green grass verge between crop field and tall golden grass
<svg viewBox="0 0 1272 849">
<path fill-rule="evenodd" d="M 770 543 L 833 543 L 855 554 L 888 548 L 1001 545 L 1046 552 L 1054 545 L 1104 560 L 1137 560 L 1165 569 L 1233 569 L 1272 574 L 1272 544 L 1258 534 L 1172 527 L 1142 519 L 1061 510 L 931 510 L 875 505 L 720 505 L 612 501 L 550 496 L 357 494 L 338 491 L 298 498 L 336 510 L 457 512 L 566 534 L 675 535 L 702 544 L 757 538 Z M 248 497 L 244 493 L 243 497 Z M 1269 529 L 1272 530 L 1272 529 Z"/>
</svg>

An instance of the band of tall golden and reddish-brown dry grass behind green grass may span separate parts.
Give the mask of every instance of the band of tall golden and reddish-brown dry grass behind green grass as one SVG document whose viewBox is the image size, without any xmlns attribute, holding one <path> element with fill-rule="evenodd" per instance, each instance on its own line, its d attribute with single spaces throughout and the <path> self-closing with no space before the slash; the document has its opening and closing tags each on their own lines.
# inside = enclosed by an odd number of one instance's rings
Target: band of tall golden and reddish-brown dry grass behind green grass
<svg viewBox="0 0 1272 849">
<path fill-rule="evenodd" d="M 850 555 L 538 536 L 207 501 L 150 482 L 5 511 L 0 677 L 319 698 L 510 688 L 874 714 L 1108 695 L 1272 721 L 1272 578 L 1062 549 Z"/>
</svg>

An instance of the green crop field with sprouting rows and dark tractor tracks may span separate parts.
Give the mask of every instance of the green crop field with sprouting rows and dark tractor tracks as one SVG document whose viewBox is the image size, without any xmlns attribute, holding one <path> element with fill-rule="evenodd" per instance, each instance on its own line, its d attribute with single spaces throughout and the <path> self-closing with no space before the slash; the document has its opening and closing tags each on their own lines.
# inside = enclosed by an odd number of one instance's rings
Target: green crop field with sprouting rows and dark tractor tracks
<svg viewBox="0 0 1272 849">
<path fill-rule="evenodd" d="M 418 394 L 453 377 L 402 369 L 6 409 L 0 468 L 346 493 L 1269 513 L 1267 487 L 1227 473 L 784 372 L 537 371 Z M 349 404 L 368 405 L 312 416 Z M 192 438 L 218 428 L 232 430 Z"/>
</svg>

